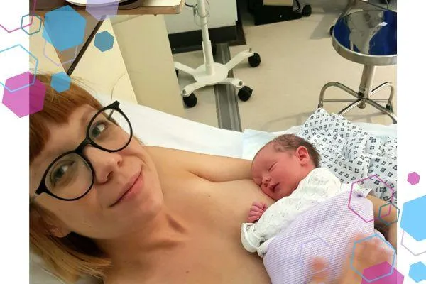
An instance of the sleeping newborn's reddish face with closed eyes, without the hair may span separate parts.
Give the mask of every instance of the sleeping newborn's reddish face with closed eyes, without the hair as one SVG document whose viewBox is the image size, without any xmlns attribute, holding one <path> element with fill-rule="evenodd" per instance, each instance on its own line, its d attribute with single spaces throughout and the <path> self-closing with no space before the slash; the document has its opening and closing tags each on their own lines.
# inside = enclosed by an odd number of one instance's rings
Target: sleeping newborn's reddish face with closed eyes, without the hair
<svg viewBox="0 0 426 284">
<path fill-rule="evenodd" d="M 277 152 L 270 143 L 256 155 L 251 173 L 254 182 L 266 195 L 279 200 L 291 195 L 299 182 L 314 168 L 313 165 L 307 166 L 307 162 L 311 163 L 306 157 L 300 157 L 297 150 Z"/>
</svg>

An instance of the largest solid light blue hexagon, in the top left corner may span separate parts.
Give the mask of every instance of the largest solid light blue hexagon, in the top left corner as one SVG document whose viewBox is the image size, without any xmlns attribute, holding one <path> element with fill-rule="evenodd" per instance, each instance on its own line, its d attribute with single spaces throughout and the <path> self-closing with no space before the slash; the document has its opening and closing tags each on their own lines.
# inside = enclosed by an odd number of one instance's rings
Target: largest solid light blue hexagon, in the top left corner
<svg viewBox="0 0 426 284">
<path fill-rule="evenodd" d="M 85 30 L 86 19 L 67 5 L 46 13 L 43 38 L 63 51 L 82 44 Z"/>
</svg>

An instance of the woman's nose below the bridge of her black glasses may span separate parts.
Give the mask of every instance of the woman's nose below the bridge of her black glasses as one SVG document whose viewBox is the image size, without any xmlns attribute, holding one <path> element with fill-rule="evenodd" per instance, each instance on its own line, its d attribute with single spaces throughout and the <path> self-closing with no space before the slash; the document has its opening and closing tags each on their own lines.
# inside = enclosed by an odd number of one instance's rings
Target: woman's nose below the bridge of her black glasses
<svg viewBox="0 0 426 284">
<path fill-rule="evenodd" d="M 84 155 L 92 163 L 94 178 L 98 183 L 107 182 L 114 175 L 114 172 L 119 169 L 123 161 L 118 152 L 110 153 L 94 147 L 85 148 Z"/>
</svg>

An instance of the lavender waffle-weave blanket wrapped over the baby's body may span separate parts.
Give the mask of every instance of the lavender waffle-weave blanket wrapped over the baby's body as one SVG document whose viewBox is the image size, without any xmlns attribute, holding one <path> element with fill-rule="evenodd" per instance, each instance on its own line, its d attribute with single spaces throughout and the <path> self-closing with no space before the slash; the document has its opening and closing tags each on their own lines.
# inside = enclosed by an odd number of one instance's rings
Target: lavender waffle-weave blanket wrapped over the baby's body
<svg viewBox="0 0 426 284">
<path fill-rule="evenodd" d="M 350 207 L 356 214 L 349 209 Z M 375 231 L 373 204 L 359 192 L 344 191 L 297 217 L 268 245 L 263 264 L 273 284 L 304 284 L 312 278 L 310 261 L 327 260 L 330 283 L 342 273 L 349 257 L 351 240 L 356 233 L 378 234 L 383 247 L 393 251 L 383 236 Z M 388 260 L 392 264 L 392 259 Z M 354 264 L 355 265 L 355 264 Z M 361 271 L 362 273 L 362 271 Z"/>
</svg>

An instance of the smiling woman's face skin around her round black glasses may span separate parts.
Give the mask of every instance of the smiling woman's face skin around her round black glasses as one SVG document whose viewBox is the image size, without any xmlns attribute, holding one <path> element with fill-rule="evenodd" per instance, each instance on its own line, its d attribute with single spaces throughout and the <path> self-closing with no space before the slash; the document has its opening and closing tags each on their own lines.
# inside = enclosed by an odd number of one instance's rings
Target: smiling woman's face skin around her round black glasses
<svg viewBox="0 0 426 284">
<path fill-rule="evenodd" d="M 96 113 L 96 109 L 86 105 L 71 114 L 69 124 L 49 125 L 50 139 L 30 167 L 30 196 L 50 163 L 84 140 L 89 121 Z M 136 138 L 119 152 L 86 146 L 83 154 L 94 168 L 94 184 L 87 195 L 64 201 L 43 193 L 35 200 L 53 213 L 57 235 L 73 231 L 92 239 L 113 239 L 129 234 L 135 224 L 149 222 L 158 214 L 163 205 L 158 174 Z"/>
</svg>

